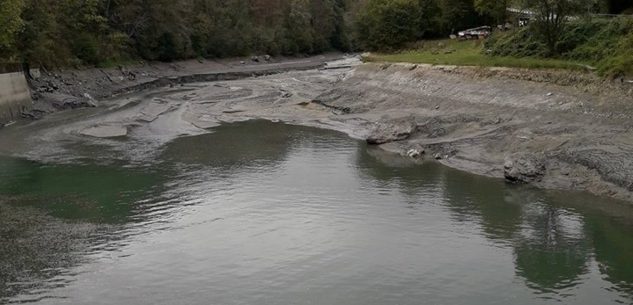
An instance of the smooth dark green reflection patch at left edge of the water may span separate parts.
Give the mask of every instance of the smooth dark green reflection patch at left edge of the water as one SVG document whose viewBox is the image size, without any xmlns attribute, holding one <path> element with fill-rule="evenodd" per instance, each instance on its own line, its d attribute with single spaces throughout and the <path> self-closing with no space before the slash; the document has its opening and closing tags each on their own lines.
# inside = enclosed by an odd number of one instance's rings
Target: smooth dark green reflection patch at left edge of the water
<svg viewBox="0 0 633 305">
<path fill-rule="evenodd" d="M 0 159 L 0 194 L 62 219 L 126 222 L 133 213 L 130 203 L 155 191 L 161 180 L 148 169 Z"/>
</svg>

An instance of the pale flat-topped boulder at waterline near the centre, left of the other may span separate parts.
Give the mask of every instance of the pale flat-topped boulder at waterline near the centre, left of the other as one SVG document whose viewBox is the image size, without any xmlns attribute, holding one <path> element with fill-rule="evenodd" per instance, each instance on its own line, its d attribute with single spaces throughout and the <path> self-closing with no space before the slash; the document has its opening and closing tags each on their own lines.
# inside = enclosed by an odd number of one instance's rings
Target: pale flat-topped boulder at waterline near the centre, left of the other
<svg viewBox="0 0 633 305">
<path fill-rule="evenodd" d="M 408 139 L 415 132 L 417 124 L 414 117 L 383 119 L 372 128 L 367 143 L 385 144 Z"/>
</svg>

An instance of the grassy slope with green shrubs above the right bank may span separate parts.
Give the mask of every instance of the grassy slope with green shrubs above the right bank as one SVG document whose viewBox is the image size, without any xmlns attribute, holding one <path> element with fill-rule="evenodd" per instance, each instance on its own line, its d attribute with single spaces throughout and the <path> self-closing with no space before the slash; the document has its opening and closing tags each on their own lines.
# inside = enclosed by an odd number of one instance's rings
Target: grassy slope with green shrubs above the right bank
<svg viewBox="0 0 633 305">
<path fill-rule="evenodd" d="M 605 77 L 633 76 L 633 18 L 571 22 L 550 56 L 531 27 L 496 32 L 486 40 L 429 40 L 367 61 L 539 69 L 590 69 Z"/>
</svg>

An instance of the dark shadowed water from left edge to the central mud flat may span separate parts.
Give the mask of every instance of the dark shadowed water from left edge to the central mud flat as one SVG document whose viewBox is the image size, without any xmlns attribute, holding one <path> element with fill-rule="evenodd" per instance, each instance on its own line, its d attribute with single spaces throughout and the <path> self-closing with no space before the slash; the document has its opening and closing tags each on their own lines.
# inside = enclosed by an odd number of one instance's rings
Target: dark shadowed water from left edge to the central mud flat
<svg viewBox="0 0 633 305">
<path fill-rule="evenodd" d="M 187 205 L 183 186 L 201 169 L 234 176 L 270 170 L 315 129 L 264 121 L 220 126 L 214 133 L 180 138 L 161 165 L 42 164 L 0 156 L 0 301 L 67 285 L 88 256 L 124 247 L 139 227 Z M 321 133 L 322 134 L 322 133 Z M 327 136 L 327 135 L 322 135 Z M 77 153 L 98 155 L 94 147 Z M 134 232 L 132 232 L 134 231 Z M 33 291 L 33 292 L 31 292 Z"/>
</svg>

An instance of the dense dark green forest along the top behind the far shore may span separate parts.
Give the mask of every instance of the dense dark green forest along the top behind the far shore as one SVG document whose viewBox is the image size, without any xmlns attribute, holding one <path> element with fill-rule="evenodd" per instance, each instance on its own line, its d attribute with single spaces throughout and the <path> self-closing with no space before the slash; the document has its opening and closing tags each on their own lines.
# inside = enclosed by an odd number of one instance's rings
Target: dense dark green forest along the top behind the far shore
<svg viewBox="0 0 633 305">
<path fill-rule="evenodd" d="M 629 0 L 585 1 L 600 12 L 630 6 Z M 396 49 L 418 39 L 499 23 L 510 2 L 2 0 L 0 62 L 55 67 Z"/>
</svg>

